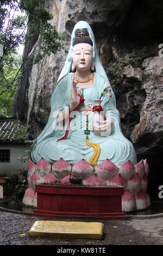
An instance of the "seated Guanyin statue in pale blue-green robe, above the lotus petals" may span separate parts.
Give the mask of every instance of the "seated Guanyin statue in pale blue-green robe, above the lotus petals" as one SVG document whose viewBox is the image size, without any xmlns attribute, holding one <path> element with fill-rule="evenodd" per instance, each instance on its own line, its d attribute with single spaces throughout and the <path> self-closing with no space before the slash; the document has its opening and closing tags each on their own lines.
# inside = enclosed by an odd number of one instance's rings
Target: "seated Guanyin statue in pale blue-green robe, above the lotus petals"
<svg viewBox="0 0 163 256">
<path fill-rule="evenodd" d="M 92 29 L 85 21 L 74 26 L 70 51 L 51 96 L 51 114 L 31 156 L 35 163 L 41 157 L 50 163 L 62 157 L 71 164 L 81 159 L 92 165 L 105 159 L 116 165 L 127 160 L 136 164 L 133 145 L 121 131 L 115 94 Z"/>
</svg>

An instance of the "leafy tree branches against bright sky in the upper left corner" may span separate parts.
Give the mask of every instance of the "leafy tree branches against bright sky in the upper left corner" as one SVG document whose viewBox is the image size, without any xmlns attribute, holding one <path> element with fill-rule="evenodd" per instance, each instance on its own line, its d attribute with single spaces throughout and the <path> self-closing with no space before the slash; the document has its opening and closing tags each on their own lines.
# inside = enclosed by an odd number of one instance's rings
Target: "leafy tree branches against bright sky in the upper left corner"
<svg viewBox="0 0 163 256">
<path fill-rule="evenodd" d="M 3 56 L 15 53 L 18 45 L 33 40 L 36 35 L 41 35 L 42 57 L 61 50 L 63 36 L 49 23 L 53 15 L 43 8 L 44 4 L 45 0 L 1 1 L 0 44 L 3 45 Z M 27 32 L 29 23 L 30 32 Z"/>
</svg>

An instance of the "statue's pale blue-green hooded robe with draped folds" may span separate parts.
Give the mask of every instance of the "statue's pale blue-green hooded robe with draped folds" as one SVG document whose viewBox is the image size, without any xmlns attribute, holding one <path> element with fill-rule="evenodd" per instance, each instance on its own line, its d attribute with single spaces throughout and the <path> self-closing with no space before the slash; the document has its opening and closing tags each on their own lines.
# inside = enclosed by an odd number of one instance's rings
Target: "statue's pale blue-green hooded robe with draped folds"
<svg viewBox="0 0 163 256">
<path fill-rule="evenodd" d="M 81 108 L 87 107 L 87 103 L 91 102 L 94 106 L 93 100 L 99 99 L 104 88 L 109 86 L 109 80 L 106 76 L 105 70 L 99 60 L 97 48 L 95 44 L 95 38 L 91 27 L 85 21 L 80 21 L 76 24 L 72 32 L 72 41 L 74 33 L 78 28 L 86 28 L 89 31 L 90 38 L 93 41 L 93 62 L 95 63 L 95 84 L 92 88 L 84 88 L 84 104 Z M 41 157 L 44 157 L 49 162 L 54 162 L 62 157 L 64 160 L 70 163 L 76 163 L 81 159 L 89 161 L 94 153 L 92 147 L 86 145 L 84 130 L 86 130 L 86 116 L 83 112 L 78 112 L 77 117 L 71 118 L 70 130 L 68 137 L 65 140 L 58 141 L 65 135 L 67 124 L 64 126 L 58 126 L 58 114 L 59 112 L 70 104 L 70 92 L 71 92 L 71 65 L 72 65 L 72 52 L 73 46 L 71 46 L 66 58 L 64 68 L 58 78 L 58 82 L 51 97 L 51 114 L 45 129 L 37 137 L 37 141 L 32 149 L 32 160 L 37 163 Z M 120 113 L 116 109 L 116 100 L 114 92 L 105 95 L 102 107 L 105 113 L 106 119 L 114 119 L 115 127 L 111 131 L 110 136 L 102 137 L 97 136 L 92 131 L 92 111 L 89 114 L 89 141 L 98 143 L 101 147 L 101 153 L 99 155 L 98 163 L 108 158 L 113 163 L 120 165 L 127 160 L 136 164 L 136 154 L 133 145 L 125 138 L 121 131 L 120 125 Z M 74 114 L 74 113 L 73 113 Z M 58 142 L 57 142 L 58 141 Z"/>
</svg>

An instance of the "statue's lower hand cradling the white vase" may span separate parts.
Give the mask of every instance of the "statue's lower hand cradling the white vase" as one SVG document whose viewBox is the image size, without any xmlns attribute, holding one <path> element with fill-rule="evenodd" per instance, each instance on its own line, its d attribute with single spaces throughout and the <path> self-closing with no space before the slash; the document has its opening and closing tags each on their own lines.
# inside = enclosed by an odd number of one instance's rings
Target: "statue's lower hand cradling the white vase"
<svg viewBox="0 0 163 256">
<path fill-rule="evenodd" d="M 96 121 L 97 125 L 92 124 L 93 132 L 98 136 L 109 136 L 111 130 L 114 128 L 114 120 Z"/>
</svg>

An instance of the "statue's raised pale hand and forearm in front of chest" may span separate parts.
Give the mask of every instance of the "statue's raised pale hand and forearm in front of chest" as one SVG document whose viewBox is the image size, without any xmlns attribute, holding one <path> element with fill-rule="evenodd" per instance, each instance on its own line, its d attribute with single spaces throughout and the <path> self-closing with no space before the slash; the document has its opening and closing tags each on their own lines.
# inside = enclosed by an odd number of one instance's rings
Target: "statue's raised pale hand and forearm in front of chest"
<svg viewBox="0 0 163 256">
<path fill-rule="evenodd" d="M 77 92 L 77 84 L 78 82 L 76 81 L 76 77 L 72 76 L 70 112 L 73 111 L 80 103 L 80 97 L 78 94 L 80 94 L 81 88 L 79 88 L 79 92 Z"/>
</svg>

